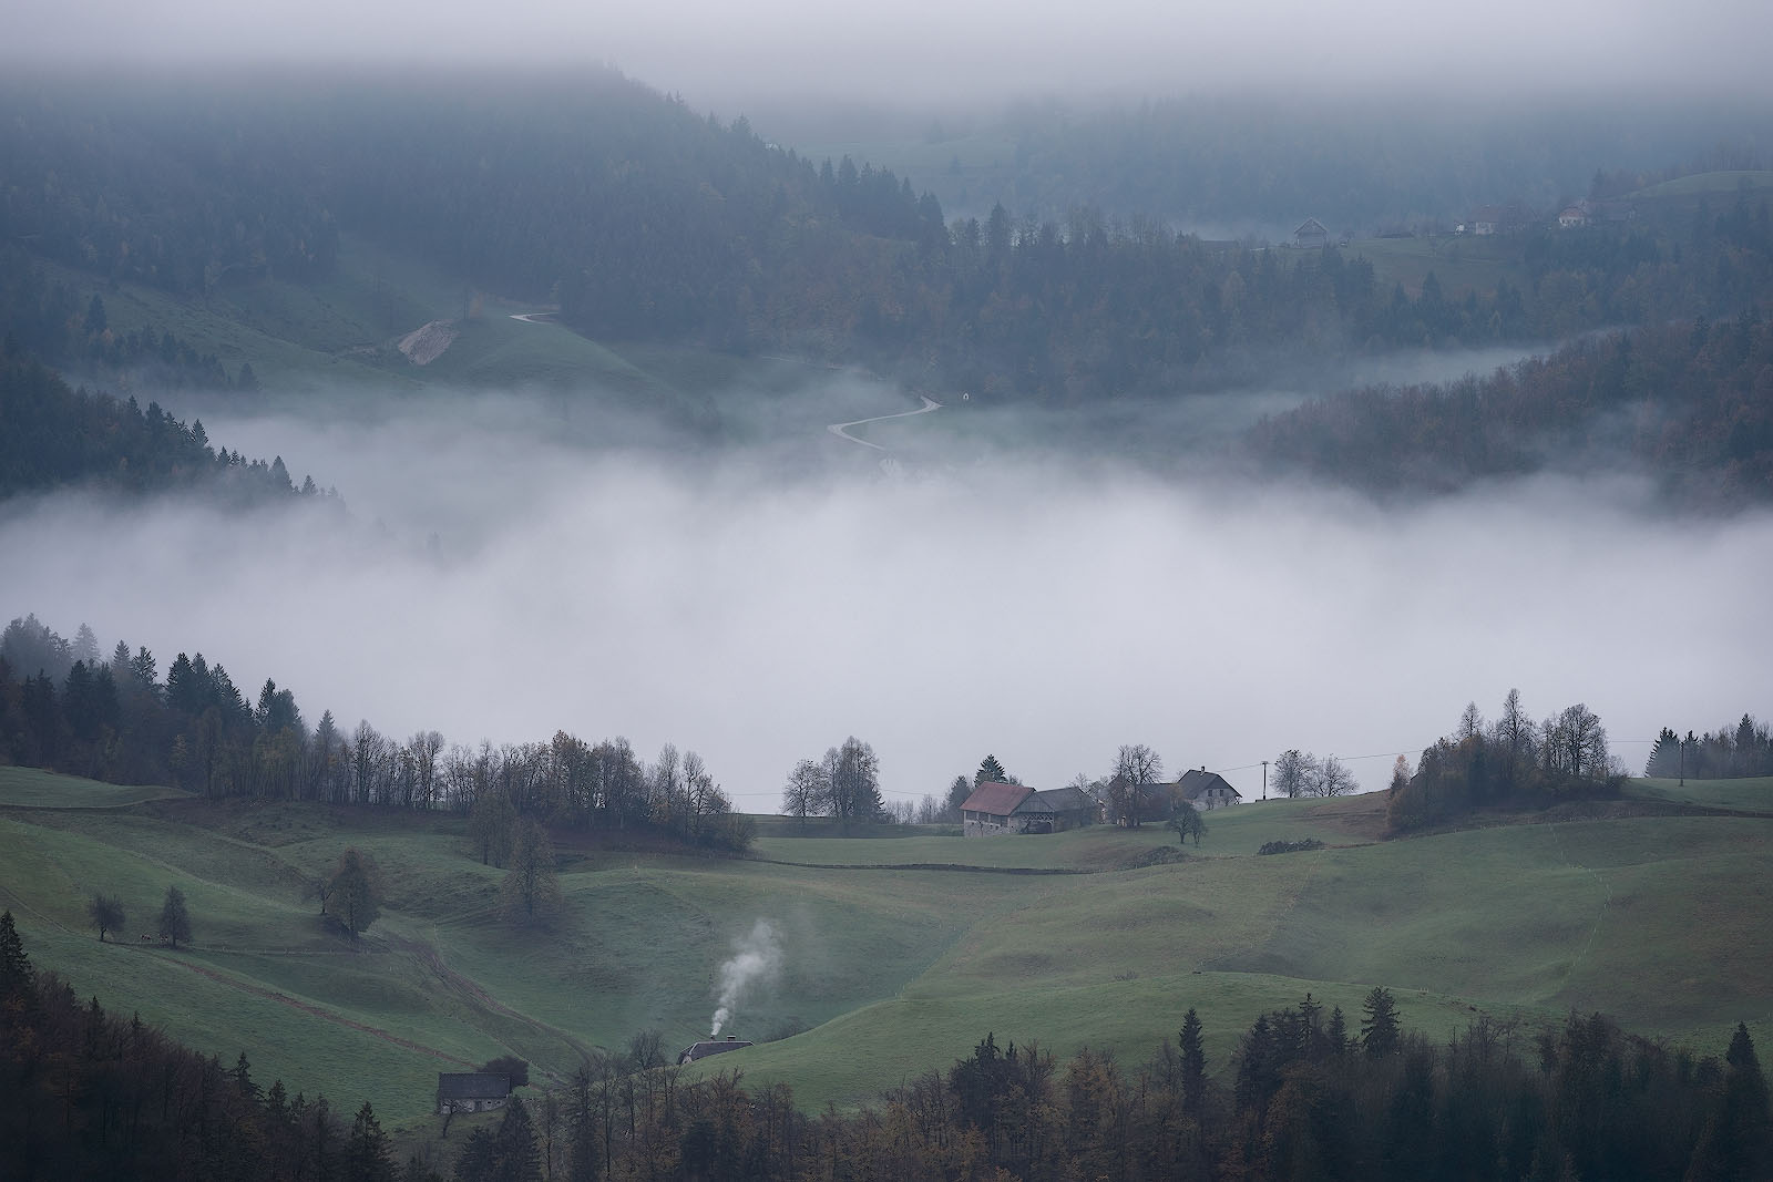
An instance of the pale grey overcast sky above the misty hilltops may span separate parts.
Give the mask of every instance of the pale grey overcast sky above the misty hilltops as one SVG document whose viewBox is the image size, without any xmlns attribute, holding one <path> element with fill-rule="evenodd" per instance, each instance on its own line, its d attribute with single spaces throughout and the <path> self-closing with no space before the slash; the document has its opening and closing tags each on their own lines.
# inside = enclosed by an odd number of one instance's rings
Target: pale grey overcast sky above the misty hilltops
<svg viewBox="0 0 1773 1182">
<path fill-rule="evenodd" d="M 782 92 L 901 103 L 1333 85 L 1769 92 L 1764 0 L 1236 5 L 1163 0 L 14 0 L 5 57 L 74 64 L 605 60 L 699 103 Z"/>
</svg>

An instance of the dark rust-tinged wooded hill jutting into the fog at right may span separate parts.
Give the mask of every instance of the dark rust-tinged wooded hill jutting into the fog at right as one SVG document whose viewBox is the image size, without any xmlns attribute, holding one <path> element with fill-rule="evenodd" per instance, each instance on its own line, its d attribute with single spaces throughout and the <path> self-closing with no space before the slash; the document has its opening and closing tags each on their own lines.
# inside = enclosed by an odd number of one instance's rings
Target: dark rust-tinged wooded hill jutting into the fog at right
<svg viewBox="0 0 1773 1182">
<path fill-rule="evenodd" d="M 1376 494 L 1629 468 L 1686 505 L 1766 502 L 1773 324 L 1745 312 L 1582 340 L 1489 377 L 1351 390 L 1264 420 L 1246 447 Z"/>
</svg>

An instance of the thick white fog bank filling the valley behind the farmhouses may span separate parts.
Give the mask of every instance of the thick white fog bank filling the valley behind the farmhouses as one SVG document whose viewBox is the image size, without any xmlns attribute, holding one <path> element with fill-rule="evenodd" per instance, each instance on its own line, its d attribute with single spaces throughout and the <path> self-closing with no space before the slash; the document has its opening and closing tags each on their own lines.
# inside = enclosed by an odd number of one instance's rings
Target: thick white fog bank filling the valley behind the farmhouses
<svg viewBox="0 0 1773 1182">
<path fill-rule="evenodd" d="M 1511 686 L 1535 716 L 1587 702 L 1615 741 L 1768 711 L 1745 634 L 1773 519 L 1660 517 L 1626 482 L 1381 510 L 1055 459 L 784 477 L 775 459 L 594 454 L 438 413 L 206 415 L 211 438 L 337 482 L 355 523 L 12 502 L 0 553 L 28 560 L 0 613 L 90 622 L 161 670 L 200 649 L 243 689 L 294 689 L 309 723 L 672 741 L 748 810 L 851 734 L 899 799 L 988 751 L 1055 787 L 1106 773 L 1122 743 L 1172 773 L 1239 769 L 1250 796 L 1248 766 L 1284 748 L 1415 753 Z M 1353 764 L 1369 787 L 1388 766 Z"/>
</svg>

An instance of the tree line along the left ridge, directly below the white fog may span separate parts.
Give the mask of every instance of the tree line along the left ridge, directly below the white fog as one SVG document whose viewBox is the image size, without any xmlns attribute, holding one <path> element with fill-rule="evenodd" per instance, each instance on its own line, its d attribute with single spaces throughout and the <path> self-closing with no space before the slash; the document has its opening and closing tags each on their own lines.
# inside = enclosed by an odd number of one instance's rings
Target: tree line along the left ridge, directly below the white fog
<svg viewBox="0 0 1773 1182">
<path fill-rule="evenodd" d="M 158 677 L 147 649 L 99 659 L 82 626 L 67 642 L 34 615 L 0 633 L 0 760 L 112 783 L 172 783 L 211 799 L 294 799 L 465 812 L 480 854 L 505 865 L 523 820 L 571 829 L 644 829 L 715 849 L 750 844 L 750 819 L 695 751 L 658 758 L 626 739 L 447 744 L 436 730 L 401 741 L 332 712 L 310 728 L 273 679 L 254 700 L 204 654 Z M 28 672 L 35 670 L 35 672 Z"/>
</svg>

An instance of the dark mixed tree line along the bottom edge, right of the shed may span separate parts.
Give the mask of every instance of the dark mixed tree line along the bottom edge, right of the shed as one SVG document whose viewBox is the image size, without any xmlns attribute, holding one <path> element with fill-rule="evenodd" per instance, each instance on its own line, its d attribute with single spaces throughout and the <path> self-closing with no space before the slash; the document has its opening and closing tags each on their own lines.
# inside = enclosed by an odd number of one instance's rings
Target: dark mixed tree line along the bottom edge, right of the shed
<svg viewBox="0 0 1773 1182">
<path fill-rule="evenodd" d="M 988 1033 L 851 1111 L 803 1113 L 791 1085 L 741 1070 L 690 1081 L 637 1037 L 512 1104 L 456 1177 L 1697 1182 L 1762 1177 L 1769 1125 L 1743 1026 L 1722 1060 L 1597 1014 L 1543 1031 L 1480 1017 L 1434 1044 L 1374 987 L 1358 1021 L 1310 994 L 1262 1014 L 1223 1067 L 1193 1008 L 1131 1063 Z"/>
</svg>

